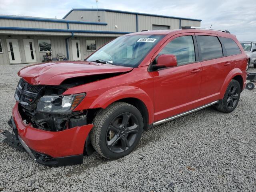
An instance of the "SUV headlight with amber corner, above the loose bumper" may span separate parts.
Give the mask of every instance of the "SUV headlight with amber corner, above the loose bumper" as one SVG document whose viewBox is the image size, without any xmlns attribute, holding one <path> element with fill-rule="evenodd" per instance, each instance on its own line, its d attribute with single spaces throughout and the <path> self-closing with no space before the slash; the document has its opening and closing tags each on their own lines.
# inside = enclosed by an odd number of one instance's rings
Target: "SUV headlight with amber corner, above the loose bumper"
<svg viewBox="0 0 256 192">
<path fill-rule="evenodd" d="M 85 97 L 85 93 L 67 96 L 46 95 L 38 102 L 37 111 L 48 113 L 70 113 Z"/>
</svg>

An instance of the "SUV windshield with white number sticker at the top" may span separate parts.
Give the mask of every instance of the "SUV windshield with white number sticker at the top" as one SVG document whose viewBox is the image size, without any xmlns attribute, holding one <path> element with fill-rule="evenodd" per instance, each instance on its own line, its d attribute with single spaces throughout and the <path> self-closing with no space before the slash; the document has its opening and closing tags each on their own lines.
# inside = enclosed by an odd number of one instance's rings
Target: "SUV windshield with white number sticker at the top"
<svg viewBox="0 0 256 192">
<path fill-rule="evenodd" d="M 128 35 L 109 42 L 87 61 L 106 62 L 126 67 L 138 67 L 148 52 L 164 37 L 164 35 Z"/>
</svg>

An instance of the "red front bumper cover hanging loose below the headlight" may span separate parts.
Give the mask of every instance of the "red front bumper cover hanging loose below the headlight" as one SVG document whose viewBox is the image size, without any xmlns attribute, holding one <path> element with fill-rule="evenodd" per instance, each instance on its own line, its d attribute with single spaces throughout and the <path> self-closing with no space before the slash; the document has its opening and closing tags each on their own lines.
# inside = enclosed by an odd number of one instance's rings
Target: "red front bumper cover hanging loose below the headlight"
<svg viewBox="0 0 256 192">
<path fill-rule="evenodd" d="M 74 127 L 60 132 L 50 132 L 24 124 L 18 112 L 18 102 L 14 105 L 12 116 L 22 140 L 33 150 L 54 158 L 83 154 L 86 137 L 92 124 Z"/>
</svg>

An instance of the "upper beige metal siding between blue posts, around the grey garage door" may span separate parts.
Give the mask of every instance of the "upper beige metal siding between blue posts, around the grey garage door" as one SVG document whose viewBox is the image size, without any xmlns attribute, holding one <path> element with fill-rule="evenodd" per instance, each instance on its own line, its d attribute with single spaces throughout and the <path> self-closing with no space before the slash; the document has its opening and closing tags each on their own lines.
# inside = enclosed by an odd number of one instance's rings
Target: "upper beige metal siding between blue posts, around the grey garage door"
<svg viewBox="0 0 256 192">
<path fill-rule="evenodd" d="M 170 26 L 170 29 L 180 28 L 179 19 L 138 15 L 138 31 L 152 30 L 153 24 Z"/>
</svg>

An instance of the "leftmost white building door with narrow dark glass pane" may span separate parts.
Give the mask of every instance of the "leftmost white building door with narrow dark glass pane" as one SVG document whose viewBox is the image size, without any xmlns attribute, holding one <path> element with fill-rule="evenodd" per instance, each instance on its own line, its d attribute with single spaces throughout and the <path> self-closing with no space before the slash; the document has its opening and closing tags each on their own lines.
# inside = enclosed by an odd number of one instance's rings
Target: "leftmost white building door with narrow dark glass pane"
<svg viewBox="0 0 256 192">
<path fill-rule="evenodd" d="M 17 39 L 6 39 L 10 63 L 21 63 L 20 48 Z"/>
</svg>

